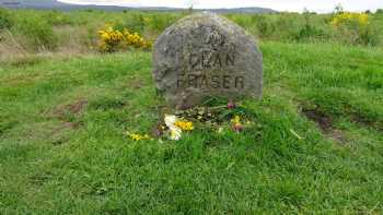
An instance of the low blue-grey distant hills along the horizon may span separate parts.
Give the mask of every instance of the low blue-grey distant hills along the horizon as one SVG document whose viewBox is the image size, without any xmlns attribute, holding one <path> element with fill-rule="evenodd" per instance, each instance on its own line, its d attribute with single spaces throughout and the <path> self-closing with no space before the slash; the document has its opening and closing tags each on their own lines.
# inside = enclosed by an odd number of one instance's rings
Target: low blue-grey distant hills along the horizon
<svg viewBox="0 0 383 215">
<path fill-rule="evenodd" d="M 116 7 L 116 5 L 80 5 L 61 3 L 56 0 L 0 0 L 0 7 L 12 9 L 56 9 L 56 10 L 107 10 L 107 11 L 121 11 L 121 10 L 150 10 L 150 11 L 179 11 L 185 9 L 176 8 L 129 8 L 129 7 Z M 211 9 L 209 11 L 217 13 L 275 13 L 277 11 L 266 8 L 236 8 L 236 9 Z"/>
</svg>

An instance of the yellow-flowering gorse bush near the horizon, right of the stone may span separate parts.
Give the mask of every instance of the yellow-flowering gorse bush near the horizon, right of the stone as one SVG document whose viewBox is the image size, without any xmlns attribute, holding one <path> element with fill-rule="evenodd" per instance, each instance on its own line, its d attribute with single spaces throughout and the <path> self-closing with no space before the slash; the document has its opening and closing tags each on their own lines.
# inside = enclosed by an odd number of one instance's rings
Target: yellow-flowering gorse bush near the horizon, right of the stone
<svg viewBox="0 0 383 215">
<path fill-rule="evenodd" d="M 367 27 L 370 24 L 369 15 L 365 13 L 345 12 L 334 16 L 333 26 L 339 27 L 344 25 L 356 24 L 359 27 Z"/>
</svg>

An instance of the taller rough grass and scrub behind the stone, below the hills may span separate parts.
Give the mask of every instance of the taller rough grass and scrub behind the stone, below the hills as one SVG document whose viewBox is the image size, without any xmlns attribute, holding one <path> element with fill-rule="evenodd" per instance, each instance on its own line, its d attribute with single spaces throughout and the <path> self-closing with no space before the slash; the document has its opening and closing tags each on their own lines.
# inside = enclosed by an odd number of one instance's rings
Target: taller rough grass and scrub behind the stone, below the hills
<svg viewBox="0 0 383 215">
<path fill-rule="evenodd" d="M 106 23 L 115 28 L 155 38 L 189 12 L 155 11 L 51 11 L 0 10 L 0 62 L 18 55 L 53 52 L 96 52 L 97 32 Z M 334 27 L 334 14 L 276 13 L 222 14 L 264 41 L 338 43 L 383 47 L 383 15 L 369 14 L 369 25 Z M 365 32 L 367 31 L 367 32 Z M 9 51 L 12 50 L 12 51 Z"/>
</svg>

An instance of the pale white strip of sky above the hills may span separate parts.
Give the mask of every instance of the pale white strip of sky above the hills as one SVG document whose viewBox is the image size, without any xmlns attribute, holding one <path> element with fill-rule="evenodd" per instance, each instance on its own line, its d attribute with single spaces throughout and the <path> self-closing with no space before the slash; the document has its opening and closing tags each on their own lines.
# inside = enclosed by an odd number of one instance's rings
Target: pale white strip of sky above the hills
<svg viewBox="0 0 383 215">
<path fill-rule="evenodd" d="M 67 3 L 126 5 L 126 7 L 172 7 L 197 9 L 260 7 L 278 11 L 301 12 L 304 8 L 316 12 L 330 12 L 341 4 L 346 11 L 375 11 L 383 8 L 383 0 L 58 0 Z"/>
</svg>

